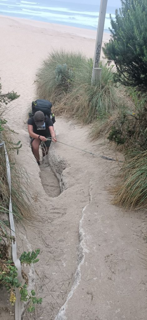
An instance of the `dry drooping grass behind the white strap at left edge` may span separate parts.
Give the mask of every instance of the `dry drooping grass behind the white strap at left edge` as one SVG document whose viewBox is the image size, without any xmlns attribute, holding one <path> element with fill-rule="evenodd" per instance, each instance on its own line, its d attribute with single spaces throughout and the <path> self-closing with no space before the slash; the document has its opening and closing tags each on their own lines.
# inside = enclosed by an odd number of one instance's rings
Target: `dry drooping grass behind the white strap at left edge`
<svg viewBox="0 0 147 320">
<path fill-rule="evenodd" d="M 28 184 L 30 183 L 27 172 L 20 167 L 15 160 L 15 151 L 17 146 L 12 140 L 12 133 L 7 125 L 4 126 L 3 140 L 7 149 L 10 169 L 11 169 L 11 183 L 12 183 L 12 211 L 15 218 L 23 220 L 24 223 L 35 219 L 33 208 L 31 205 L 31 195 L 28 192 Z M 6 162 L 4 150 L 0 153 L 0 212 L 8 213 L 10 200 L 10 191 L 6 175 Z"/>
</svg>

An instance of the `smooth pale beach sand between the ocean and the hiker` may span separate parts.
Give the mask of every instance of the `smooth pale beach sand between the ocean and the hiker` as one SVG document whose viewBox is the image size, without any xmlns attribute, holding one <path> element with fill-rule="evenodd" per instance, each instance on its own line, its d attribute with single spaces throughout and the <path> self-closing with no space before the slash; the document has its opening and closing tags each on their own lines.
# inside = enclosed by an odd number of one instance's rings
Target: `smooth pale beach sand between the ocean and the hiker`
<svg viewBox="0 0 147 320">
<path fill-rule="evenodd" d="M 13 110 L 14 116 L 18 111 L 22 115 L 25 106 L 35 99 L 35 74 L 50 51 L 63 48 L 94 56 L 96 32 L 93 30 L 4 16 L 0 16 L 0 28 L 3 90 L 16 90 L 21 101 L 24 99 L 23 108 L 18 106 Z M 109 39 L 110 35 L 105 33 L 103 44 Z"/>
</svg>

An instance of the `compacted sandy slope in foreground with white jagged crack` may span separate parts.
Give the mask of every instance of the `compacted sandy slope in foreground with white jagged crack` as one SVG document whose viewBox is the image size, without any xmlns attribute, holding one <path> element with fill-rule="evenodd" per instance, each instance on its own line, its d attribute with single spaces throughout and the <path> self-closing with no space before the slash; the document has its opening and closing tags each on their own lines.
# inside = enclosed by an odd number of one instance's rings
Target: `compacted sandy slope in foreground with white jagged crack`
<svg viewBox="0 0 147 320">
<path fill-rule="evenodd" d="M 103 144 L 100 147 L 98 142 L 92 145 L 86 140 L 85 128 L 77 131 L 64 119 L 58 119 L 56 126 L 58 140 L 76 141 L 76 146 L 112 156 Z M 138 320 L 142 312 L 145 320 L 143 301 L 143 309 L 139 307 L 147 283 L 139 255 L 145 244 L 138 236 L 146 228 L 146 221 L 141 213 L 124 212 L 108 201 L 104 190 L 117 165 L 78 150 L 69 152 L 60 144 L 52 144 L 49 159 L 53 172 L 62 179 L 64 191 L 54 199 L 41 200 L 47 206 L 44 224 L 40 224 L 41 263 L 35 267 L 39 292 L 44 297 L 37 310 L 38 319 L 44 315 L 46 320 Z M 136 318 L 135 313 L 132 317 L 130 303 L 138 312 Z"/>
</svg>

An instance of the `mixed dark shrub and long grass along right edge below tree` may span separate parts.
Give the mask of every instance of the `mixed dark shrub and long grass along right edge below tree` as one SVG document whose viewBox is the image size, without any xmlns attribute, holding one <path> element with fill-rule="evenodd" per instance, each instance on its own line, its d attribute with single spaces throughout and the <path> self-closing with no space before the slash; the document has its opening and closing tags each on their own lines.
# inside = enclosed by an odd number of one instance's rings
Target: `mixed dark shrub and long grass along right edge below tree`
<svg viewBox="0 0 147 320">
<path fill-rule="evenodd" d="M 140 100 L 135 101 L 134 112 L 118 114 L 108 139 L 122 146 L 125 154 L 117 185 L 112 187 L 113 204 L 130 209 L 146 209 L 147 106 L 144 99 L 141 103 Z"/>
</svg>

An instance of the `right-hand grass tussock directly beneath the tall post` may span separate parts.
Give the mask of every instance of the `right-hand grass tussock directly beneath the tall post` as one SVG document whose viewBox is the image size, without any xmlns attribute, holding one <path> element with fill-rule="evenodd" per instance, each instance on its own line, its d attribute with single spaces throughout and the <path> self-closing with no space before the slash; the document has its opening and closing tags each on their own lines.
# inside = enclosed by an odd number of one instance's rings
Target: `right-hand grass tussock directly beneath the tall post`
<svg viewBox="0 0 147 320">
<path fill-rule="evenodd" d="M 85 68 L 80 69 L 76 75 L 73 89 L 65 99 L 66 109 L 80 123 L 88 124 L 97 117 L 104 118 L 116 108 L 113 69 L 106 64 L 101 67 L 101 80 L 97 84 L 91 84 L 92 63 L 88 60 Z"/>
</svg>

